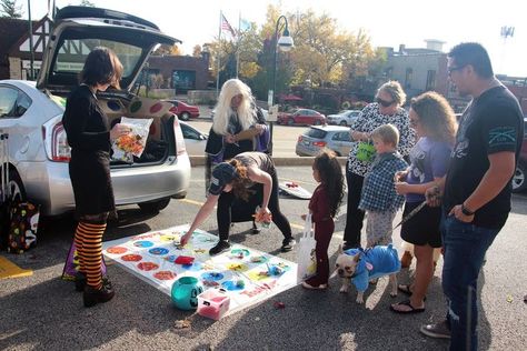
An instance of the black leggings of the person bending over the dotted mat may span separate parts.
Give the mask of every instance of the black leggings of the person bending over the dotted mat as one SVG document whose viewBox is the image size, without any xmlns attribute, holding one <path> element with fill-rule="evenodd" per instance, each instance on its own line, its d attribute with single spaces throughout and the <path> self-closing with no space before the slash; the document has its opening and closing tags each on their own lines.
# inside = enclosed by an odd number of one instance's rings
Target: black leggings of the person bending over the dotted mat
<svg viewBox="0 0 527 351">
<path fill-rule="evenodd" d="M 281 213 L 280 204 L 278 203 L 278 177 L 276 171 L 270 176 L 272 178 L 272 189 L 268 208 L 272 214 L 272 222 L 281 231 L 285 239 L 290 239 L 292 237 L 291 225 L 284 213 Z M 264 185 L 255 184 L 250 190 L 253 190 L 255 193 L 249 194 L 247 202 L 241 199 L 237 199 L 232 191 L 221 192 L 218 199 L 218 210 L 216 212 L 220 240 L 229 239 L 230 223 L 232 221 L 242 222 L 252 220 L 251 215 L 255 214 L 256 207 L 261 204 L 264 199 Z M 233 207 L 235 201 L 240 205 Z"/>
</svg>

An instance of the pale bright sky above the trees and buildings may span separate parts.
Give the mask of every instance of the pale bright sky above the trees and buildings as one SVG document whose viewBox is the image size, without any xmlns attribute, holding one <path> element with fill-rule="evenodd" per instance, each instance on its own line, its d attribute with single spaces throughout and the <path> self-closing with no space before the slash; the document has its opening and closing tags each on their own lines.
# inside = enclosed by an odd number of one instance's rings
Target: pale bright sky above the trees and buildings
<svg viewBox="0 0 527 351">
<path fill-rule="evenodd" d="M 28 0 L 32 19 L 48 12 L 53 0 Z M 22 4 L 28 17 L 26 0 Z M 54 0 L 57 7 L 79 4 L 81 0 Z M 527 20 L 525 0 L 90 0 L 97 7 L 119 10 L 156 23 L 161 31 L 183 41 L 181 49 L 191 54 L 196 44 L 218 36 L 219 13 L 235 28 L 238 18 L 261 24 L 267 6 L 280 6 L 282 13 L 312 9 L 337 20 L 348 32 L 365 30 L 375 47 L 399 44 L 425 48 L 426 39 L 445 41 L 444 51 L 459 42 L 480 42 L 489 52 L 495 73 L 527 77 Z M 494 6 L 493 6 L 494 4 Z M 514 37 L 504 39 L 501 27 L 514 27 Z M 295 39 L 295 38 L 294 38 Z"/>
</svg>

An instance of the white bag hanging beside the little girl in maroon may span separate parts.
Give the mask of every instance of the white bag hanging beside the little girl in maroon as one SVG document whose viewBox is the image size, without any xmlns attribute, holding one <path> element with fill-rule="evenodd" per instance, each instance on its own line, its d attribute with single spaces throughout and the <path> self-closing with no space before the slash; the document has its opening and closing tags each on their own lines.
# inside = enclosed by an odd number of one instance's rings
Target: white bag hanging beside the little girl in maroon
<svg viewBox="0 0 527 351">
<path fill-rule="evenodd" d="M 317 258 L 315 254 L 315 233 L 312 231 L 311 214 L 308 214 L 304 223 L 304 233 L 298 242 L 297 280 L 304 281 L 317 272 Z"/>
</svg>

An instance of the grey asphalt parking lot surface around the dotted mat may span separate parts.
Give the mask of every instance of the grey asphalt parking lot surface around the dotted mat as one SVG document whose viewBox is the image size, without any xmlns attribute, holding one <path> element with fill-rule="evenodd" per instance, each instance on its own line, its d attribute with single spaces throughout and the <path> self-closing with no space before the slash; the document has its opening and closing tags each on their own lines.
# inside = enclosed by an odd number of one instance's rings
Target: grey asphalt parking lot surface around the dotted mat
<svg viewBox="0 0 527 351">
<path fill-rule="evenodd" d="M 108 228 L 105 240 L 135 235 L 151 230 L 189 223 L 205 199 L 203 168 L 192 170 L 189 193 L 172 200 L 157 215 L 138 207 L 119 210 L 119 220 Z M 316 187 L 310 167 L 278 167 L 280 180 L 294 180 L 312 191 Z M 280 205 L 298 238 L 308 202 L 281 198 Z M 400 220 L 400 213 L 396 222 Z M 515 195 L 509 220 L 487 253 L 479 277 L 480 350 L 525 350 L 527 344 L 527 197 Z M 281 253 L 281 234 L 272 227 L 250 233 L 250 223 L 236 223 L 230 239 L 295 261 L 297 251 Z M 329 248 L 331 264 L 341 243 L 344 211 L 336 220 Z M 426 311 L 398 315 L 389 304 L 402 301 L 401 293 L 390 298 L 388 279 L 370 285 L 366 304 L 355 302 L 356 291 L 339 293 L 338 279 L 327 291 L 287 290 L 256 305 L 212 321 L 177 310 L 170 298 L 109 262 L 108 272 L 116 298 L 86 309 L 81 293 L 71 282 L 60 280 L 63 262 L 74 230 L 71 217 L 44 219 L 39 245 L 24 254 L 4 254 L 16 264 L 33 270 L 27 278 L 0 281 L 0 350 L 446 350 L 448 342 L 422 337 L 419 325 L 445 315 L 439 261 L 429 288 Z M 211 215 L 201 229 L 216 232 Z M 364 235 L 362 235 L 364 237 Z M 365 239 L 365 238 L 362 238 Z M 365 240 L 362 240 L 365 241 Z M 399 231 L 394 233 L 400 247 Z M 414 262 L 415 264 L 415 262 Z M 399 282 L 408 282 L 410 270 L 402 270 Z M 274 302 L 285 303 L 275 309 Z M 190 329 L 177 329 L 176 321 L 188 319 Z"/>
</svg>

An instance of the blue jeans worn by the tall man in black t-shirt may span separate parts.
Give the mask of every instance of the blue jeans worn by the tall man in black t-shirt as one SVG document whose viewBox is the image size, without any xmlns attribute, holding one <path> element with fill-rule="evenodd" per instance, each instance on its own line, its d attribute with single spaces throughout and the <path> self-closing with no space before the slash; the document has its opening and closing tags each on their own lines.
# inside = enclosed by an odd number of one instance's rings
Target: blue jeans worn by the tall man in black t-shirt
<svg viewBox="0 0 527 351">
<path fill-rule="evenodd" d="M 443 291 L 447 298 L 450 350 L 477 350 L 477 281 L 487 249 L 500 229 L 465 223 L 454 215 L 444 218 Z"/>
</svg>

